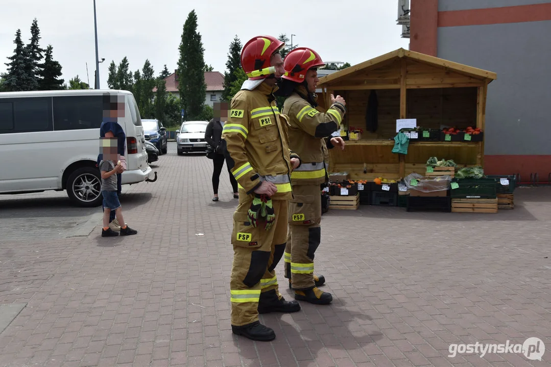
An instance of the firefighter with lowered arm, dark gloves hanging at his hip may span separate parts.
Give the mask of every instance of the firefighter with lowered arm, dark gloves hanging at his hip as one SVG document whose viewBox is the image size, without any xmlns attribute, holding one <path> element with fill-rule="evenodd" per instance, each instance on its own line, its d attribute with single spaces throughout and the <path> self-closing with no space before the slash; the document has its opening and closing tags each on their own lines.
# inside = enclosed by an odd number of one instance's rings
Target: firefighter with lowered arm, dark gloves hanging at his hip
<svg viewBox="0 0 551 367">
<path fill-rule="evenodd" d="M 296 300 L 279 293 L 276 266 L 287 241 L 290 174 L 300 159 L 289 150 L 287 122 L 279 115 L 273 92 L 283 75 L 279 50 L 284 43 L 258 36 L 241 51 L 249 77 L 231 100 L 222 138 L 239 187 L 231 244 L 231 329 L 256 341 L 271 341 L 274 331 L 260 324 L 259 313 L 300 310 Z"/>
</svg>

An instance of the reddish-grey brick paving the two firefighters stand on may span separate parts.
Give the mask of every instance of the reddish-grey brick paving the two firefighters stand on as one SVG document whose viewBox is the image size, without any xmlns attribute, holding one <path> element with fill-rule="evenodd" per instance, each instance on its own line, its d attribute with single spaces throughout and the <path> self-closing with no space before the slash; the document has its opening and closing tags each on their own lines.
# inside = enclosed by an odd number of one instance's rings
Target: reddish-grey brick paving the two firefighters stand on
<svg viewBox="0 0 551 367">
<path fill-rule="evenodd" d="M 0 240 L 0 305 L 27 303 L 0 333 L 0 366 L 549 365 L 551 352 L 448 357 L 450 343 L 538 337 L 551 348 L 549 188 L 517 189 L 516 209 L 498 214 L 362 206 L 323 215 L 316 272 L 333 303 L 262 315 L 277 338 L 256 343 L 231 333 L 228 174 L 221 201 L 210 201 L 212 163 L 177 156 L 173 144 L 153 167 L 158 181 L 121 199 L 138 235 L 101 238 L 98 222 L 87 237 L 12 228 Z M 36 198 L 36 217 L 64 210 Z M 18 210 L 10 200 L 5 217 Z M 283 262 L 278 270 L 289 299 Z"/>
</svg>

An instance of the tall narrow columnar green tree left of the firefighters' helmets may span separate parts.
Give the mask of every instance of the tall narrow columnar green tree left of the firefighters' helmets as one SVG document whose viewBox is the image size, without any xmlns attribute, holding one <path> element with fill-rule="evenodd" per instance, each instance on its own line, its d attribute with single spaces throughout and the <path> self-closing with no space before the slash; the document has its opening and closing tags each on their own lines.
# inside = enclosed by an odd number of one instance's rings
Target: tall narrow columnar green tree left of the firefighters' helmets
<svg viewBox="0 0 551 367">
<path fill-rule="evenodd" d="M 204 80 L 203 42 L 197 32 L 197 14 L 192 10 L 183 25 L 178 60 L 178 90 L 187 119 L 203 112 L 207 86 Z"/>
</svg>

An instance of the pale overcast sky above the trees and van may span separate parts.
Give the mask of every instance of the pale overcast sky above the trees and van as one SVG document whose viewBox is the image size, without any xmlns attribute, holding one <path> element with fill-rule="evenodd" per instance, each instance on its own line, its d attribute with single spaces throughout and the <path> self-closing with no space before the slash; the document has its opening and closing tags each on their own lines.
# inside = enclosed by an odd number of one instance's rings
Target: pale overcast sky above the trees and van
<svg viewBox="0 0 551 367">
<path fill-rule="evenodd" d="M 300 6 L 297 4 L 301 3 Z M 312 4 L 306 6 L 306 4 Z M 195 9 L 204 58 L 224 72 L 229 44 L 237 35 L 244 44 L 256 35 L 286 33 L 293 43 L 314 48 L 325 62 L 356 64 L 403 47 L 396 25 L 397 0 L 96 0 L 100 87 L 107 88 L 107 68 L 127 57 L 132 71 L 145 59 L 158 75 L 166 64 L 177 66 L 182 26 Z M 315 5 L 314 5 L 315 4 Z M 266 9 L 266 10 L 264 10 Z M 0 72 L 12 56 L 15 31 L 25 43 L 37 18 L 41 47 L 53 46 L 53 57 L 63 67 L 66 82 L 79 75 L 94 86 L 95 45 L 93 0 L 2 0 Z"/>
</svg>

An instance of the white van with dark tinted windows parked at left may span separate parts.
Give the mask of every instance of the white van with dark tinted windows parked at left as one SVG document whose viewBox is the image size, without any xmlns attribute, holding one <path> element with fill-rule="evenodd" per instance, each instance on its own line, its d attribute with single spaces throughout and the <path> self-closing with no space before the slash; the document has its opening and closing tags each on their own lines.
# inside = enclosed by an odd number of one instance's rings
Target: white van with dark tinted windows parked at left
<svg viewBox="0 0 551 367">
<path fill-rule="evenodd" d="M 0 194 L 67 190 L 79 206 L 101 205 L 97 161 L 105 94 L 125 101 L 125 117 L 118 119 L 126 134 L 122 184 L 150 180 L 142 120 L 131 92 L 2 92 Z"/>
</svg>

